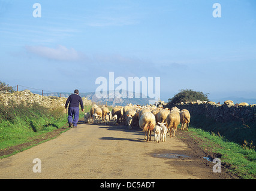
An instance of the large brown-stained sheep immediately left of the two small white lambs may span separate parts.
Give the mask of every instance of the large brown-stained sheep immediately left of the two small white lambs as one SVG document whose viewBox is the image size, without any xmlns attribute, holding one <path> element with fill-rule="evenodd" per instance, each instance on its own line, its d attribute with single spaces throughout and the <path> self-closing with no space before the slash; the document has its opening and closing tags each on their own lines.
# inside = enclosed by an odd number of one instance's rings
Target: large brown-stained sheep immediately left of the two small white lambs
<svg viewBox="0 0 256 191">
<path fill-rule="evenodd" d="M 155 128 L 155 116 L 151 112 L 143 113 L 138 123 L 140 125 L 140 128 L 143 131 L 145 131 L 144 140 L 150 141 L 151 133 L 153 131 L 153 128 Z M 147 139 L 146 139 L 146 134 L 147 134 Z"/>
</svg>

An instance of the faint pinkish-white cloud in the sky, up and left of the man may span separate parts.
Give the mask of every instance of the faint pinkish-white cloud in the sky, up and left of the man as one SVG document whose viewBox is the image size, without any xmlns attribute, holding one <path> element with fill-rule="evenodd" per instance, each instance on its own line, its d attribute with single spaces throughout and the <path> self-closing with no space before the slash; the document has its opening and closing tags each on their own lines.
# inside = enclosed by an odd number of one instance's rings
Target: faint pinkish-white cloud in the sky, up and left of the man
<svg viewBox="0 0 256 191">
<path fill-rule="evenodd" d="M 29 53 L 52 60 L 78 61 L 83 57 L 82 53 L 77 52 L 74 48 L 68 49 L 62 45 L 58 45 L 56 48 L 43 46 L 26 46 L 25 48 Z"/>
</svg>

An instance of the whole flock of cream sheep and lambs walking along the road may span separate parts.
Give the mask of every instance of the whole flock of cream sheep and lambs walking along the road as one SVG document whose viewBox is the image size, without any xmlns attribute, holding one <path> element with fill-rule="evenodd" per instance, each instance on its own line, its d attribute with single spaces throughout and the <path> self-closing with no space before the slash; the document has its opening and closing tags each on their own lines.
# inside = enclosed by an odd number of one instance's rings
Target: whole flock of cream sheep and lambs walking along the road
<svg viewBox="0 0 256 191">
<path fill-rule="evenodd" d="M 176 130 L 179 124 L 182 125 L 181 130 L 188 131 L 190 122 L 190 113 L 188 110 L 179 110 L 177 107 L 161 108 L 154 105 L 137 106 L 131 103 L 127 106 L 113 107 L 112 112 L 106 106 L 99 107 L 96 104 L 92 106 L 91 111 L 85 113 L 85 122 L 88 123 L 92 119 L 94 124 L 109 124 L 113 119 L 113 125 L 124 124 L 132 129 L 132 127 L 140 127 L 145 131 L 144 139 L 151 140 L 152 131 L 154 132 L 154 140 L 159 143 L 160 140 L 165 141 L 167 130 L 170 130 L 170 137 L 176 137 Z"/>
</svg>

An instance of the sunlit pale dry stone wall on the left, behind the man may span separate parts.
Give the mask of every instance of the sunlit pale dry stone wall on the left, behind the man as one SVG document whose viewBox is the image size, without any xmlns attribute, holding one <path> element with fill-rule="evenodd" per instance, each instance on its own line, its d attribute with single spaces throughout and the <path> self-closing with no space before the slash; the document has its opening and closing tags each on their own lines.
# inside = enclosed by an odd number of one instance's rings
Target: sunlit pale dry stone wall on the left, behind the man
<svg viewBox="0 0 256 191">
<path fill-rule="evenodd" d="M 83 104 L 85 106 L 92 106 L 92 101 L 85 97 L 82 97 Z M 8 104 L 28 104 L 38 103 L 47 108 L 63 107 L 65 110 L 66 97 L 46 97 L 39 94 L 33 94 L 29 90 L 16 91 L 14 93 L 1 93 L 0 104 L 7 106 Z"/>
</svg>

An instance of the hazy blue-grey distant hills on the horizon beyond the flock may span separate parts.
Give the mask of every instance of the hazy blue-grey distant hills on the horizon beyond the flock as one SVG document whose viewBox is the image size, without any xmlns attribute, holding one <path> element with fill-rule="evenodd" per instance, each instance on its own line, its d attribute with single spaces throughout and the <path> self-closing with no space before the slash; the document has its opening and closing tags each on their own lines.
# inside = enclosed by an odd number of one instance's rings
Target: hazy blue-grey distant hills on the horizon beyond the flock
<svg viewBox="0 0 256 191">
<path fill-rule="evenodd" d="M 40 92 L 34 91 L 34 94 L 40 94 Z M 44 96 L 56 96 L 59 97 L 59 95 L 61 94 L 61 97 L 68 97 L 70 96 L 72 93 L 44 93 Z M 110 98 L 113 97 L 113 92 L 111 91 L 107 91 L 106 93 L 108 96 L 107 97 L 103 97 L 103 98 L 98 98 L 95 94 L 95 92 L 91 92 L 91 93 L 79 93 L 79 96 L 81 97 L 87 97 L 89 100 L 92 100 L 92 102 L 95 102 L 97 104 L 107 104 L 108 106 L 125 106 L 129 103 L 132 104 L 140 104 L 140 105 L 146 105 L 150 103 L 150 100 L 152 100 L 152 98 L 142 98 L 142 94 L 140 93 L 139 98 L 135 98 L 135 93 L 133 94 L 133 98 L 128 98 L 128 91 L 127 91 L 127 98 L 123 97 L 114 97 L 114 98 Z"/>
</svg>

